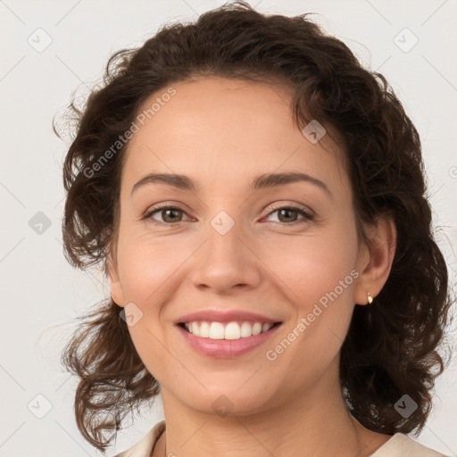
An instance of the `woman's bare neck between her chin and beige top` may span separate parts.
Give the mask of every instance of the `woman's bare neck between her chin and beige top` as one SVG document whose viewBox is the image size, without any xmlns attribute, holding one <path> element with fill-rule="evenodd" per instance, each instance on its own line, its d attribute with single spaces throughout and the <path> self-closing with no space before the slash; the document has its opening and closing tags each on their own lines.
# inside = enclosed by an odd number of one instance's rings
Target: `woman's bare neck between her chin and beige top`
<svg viewBox="0 0 457 457">
<path fill-rule="evenodd" d="M 367 457 L 391 436 L 353 419 L 337 382 L 316 383 L 280 407 L 252 415 L 220 417 L 195 411 L 162 387 L 166 432 L 154 457 Z"/>
</svg>

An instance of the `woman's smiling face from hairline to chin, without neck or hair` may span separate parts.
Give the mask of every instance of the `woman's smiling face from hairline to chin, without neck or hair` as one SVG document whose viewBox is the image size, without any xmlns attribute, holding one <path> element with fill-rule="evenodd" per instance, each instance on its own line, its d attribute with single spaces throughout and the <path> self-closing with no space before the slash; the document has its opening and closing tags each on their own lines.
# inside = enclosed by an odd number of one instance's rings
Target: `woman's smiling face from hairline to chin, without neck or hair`
<svg viewBox="0 0 457 457">
<path fill-rule="evenodd" d="M 316 142 L 293 126 L 279 87 L 216 77 L 173 87 L 145 104 L 160 99 L 137 123 L 121 177 L 110 277 L 137 353 L 164 398 L 197 411 L 242 415 L 324 395 L 337 386 L 354 303 L 367 301 L 370 257 L 343 152 L 329 131 Z M 259 179 L 282 173 L 309 179 Z M 135 186 L 148 174 L 187 178 Z M 165 204 L 175 209 L 144 217 Z M 260 317 L 229 316 L 238 325 L 228 331 L 218 315 L 186 317 L 194 312 Z M 179 325 L 195 319 L 209 320 L 211 337 Z M 259 320 L 281 324 L 237 339 Z"/>
</svg>

